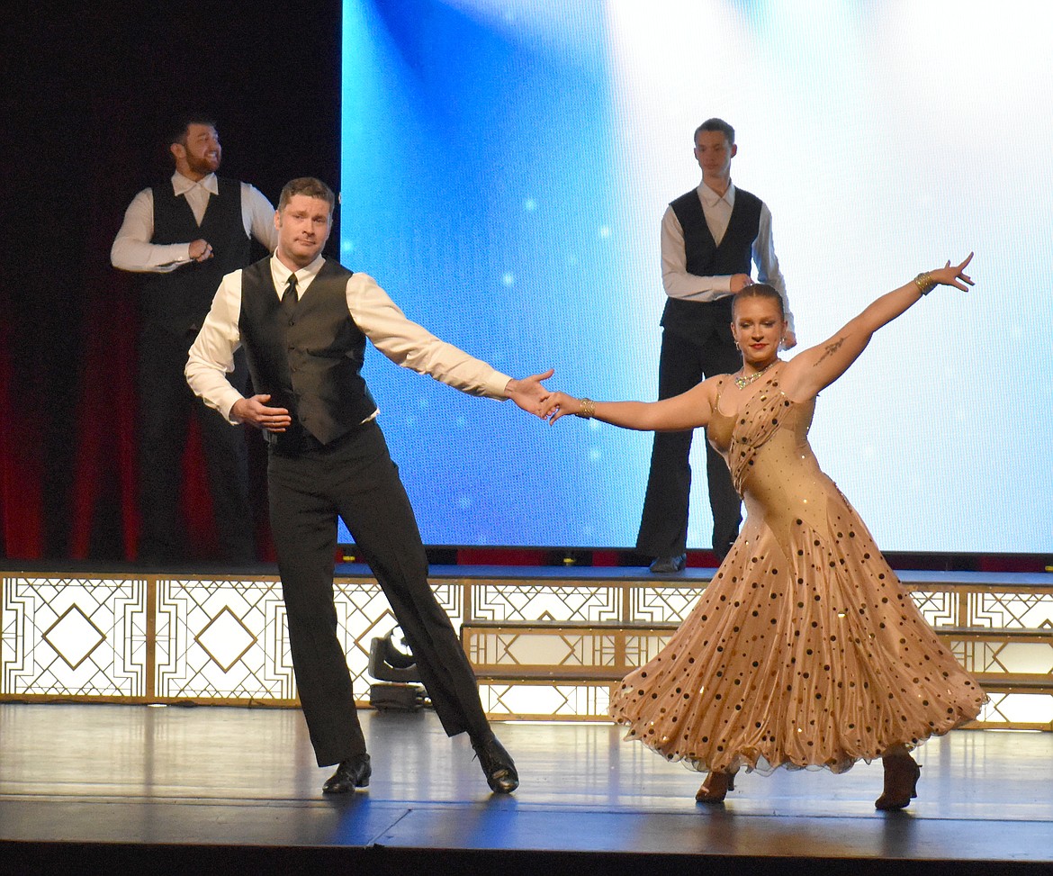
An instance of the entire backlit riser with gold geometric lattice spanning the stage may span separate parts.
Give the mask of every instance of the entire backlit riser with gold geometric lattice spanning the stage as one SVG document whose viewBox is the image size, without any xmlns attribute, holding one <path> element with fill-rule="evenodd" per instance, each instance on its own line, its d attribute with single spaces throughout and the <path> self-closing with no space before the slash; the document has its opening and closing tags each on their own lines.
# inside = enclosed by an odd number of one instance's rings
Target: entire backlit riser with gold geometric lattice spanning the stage
<svg viewBox="0 0 1053 876">
<path fill-rule="evenodd" d="M 657 652 L 707 583 L 590 573 L 433 577 L 491 715 L 607 719 L 610 684 Z M 1053 576 L 996 577 L 907 585 L 991 696 L 978 725 L 1053 730 Z M 395 619 L 369 574 L 338 577 L 336 605 L 364 697 L 370 641 Z M 296 705 L 279 579 L 3 574 L 0 700 L 53 699 Z"/>
</svg>

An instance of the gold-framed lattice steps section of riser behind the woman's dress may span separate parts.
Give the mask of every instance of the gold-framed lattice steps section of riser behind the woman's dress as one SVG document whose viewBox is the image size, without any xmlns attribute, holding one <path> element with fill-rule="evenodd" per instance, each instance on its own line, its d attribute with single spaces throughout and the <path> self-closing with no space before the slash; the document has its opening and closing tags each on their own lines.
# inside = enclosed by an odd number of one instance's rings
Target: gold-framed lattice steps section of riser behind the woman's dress
<svg viewBox="0 0 1053 876">
<path fill-rule="evenodd" d="M 990 701 L 972 726 L 1053 730 L 1053 576 L 909 582 L 916 604 Z M 1035 578 L 1049 583 L 1033 583 Z M 509 718 L 602 718 L 612 682 L 651 659 L 701 592 L 697 580 L 597 579 L 520 595 L 465 580 L 461 638 L 483 702 Z M 532 703 L 541 703 L 538 709 Z"/>
</svg>

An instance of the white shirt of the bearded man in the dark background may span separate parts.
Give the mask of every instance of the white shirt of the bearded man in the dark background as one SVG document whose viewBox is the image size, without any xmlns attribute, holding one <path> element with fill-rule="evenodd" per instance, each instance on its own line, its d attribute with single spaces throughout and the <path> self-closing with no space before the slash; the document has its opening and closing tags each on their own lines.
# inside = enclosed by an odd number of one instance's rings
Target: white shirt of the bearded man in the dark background
<svg viewBox="0 0 1053 876">
<path fill-rule="evenodd" d="M 186 196 L 186 203 L 200 225 L 208 197 L 219 194 L 215 174 L 195 182 L 180 173 L 172 175 L 172 190 L 178 198 Z M 247 182 L 241 183 L 241 222 L 246 237 L 255 237 L 269 253 L 278 245 L 278 230 L 274 226 L 274 207 L 263 194 Z M 154 272 L 165 274 L 187 264 L 191 241 L 185 243 L 151 243 L 154 236 L 154 191 L 143 188 L 124 211 L 124 222 L 117 232 L 110 250 L 110 261 L 121 271 Z"/>
</svg>

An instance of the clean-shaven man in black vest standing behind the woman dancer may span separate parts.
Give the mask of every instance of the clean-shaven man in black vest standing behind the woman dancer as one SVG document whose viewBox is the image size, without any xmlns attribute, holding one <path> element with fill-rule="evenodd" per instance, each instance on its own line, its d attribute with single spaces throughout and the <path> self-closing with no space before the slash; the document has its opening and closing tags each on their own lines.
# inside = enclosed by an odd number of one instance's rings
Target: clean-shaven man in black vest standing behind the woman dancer
<svg viewBox="0 0 1053 876">
<path fill-rule="evenodd" d="M 684 393 L 706 377 L 731 374 L 741 356 L 731 335 L 731 296 L 758 280 L 782 295 L 790 321 L 784 346 L 796 343 L 786 282 L 772 242 L 772 215 L 763 201 L 731 181 L 738 147 L 735 130 L 709 119 L 695 131 L 695 159 L 702 168 L 697 188 L 674 200 L 661 223 L 662 313 L 658 398 Z M 636 550 L 655 557 L 654 573 L 683 569 L 688 545 L 692 432 L 656 433 Z M 713 551 L 723 559 L 742 522 L 741 502 L 720 455 L 706 443 Z"/>
</svg>

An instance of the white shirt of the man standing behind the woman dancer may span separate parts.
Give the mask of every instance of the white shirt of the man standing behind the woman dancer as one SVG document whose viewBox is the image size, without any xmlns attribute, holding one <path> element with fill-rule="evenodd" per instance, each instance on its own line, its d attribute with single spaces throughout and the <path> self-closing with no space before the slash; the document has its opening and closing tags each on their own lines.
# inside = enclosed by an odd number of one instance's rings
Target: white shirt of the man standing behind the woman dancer
<svg viewBox="0 0 1053 876">
<path fill-rule="evenodd" d="M 729 183 L 728 191 L 718 195 L 704 182 L 699 183 L 698 199 L 702 204 L 706 224 L 713 235 L 713 242 L 720 245 L 735 207 L 735 185 Z M 760 202 L 760 222 L 757 238 L 753 241 L 753 263 L 757 266 L 757 281 L 768 283 L 782 296 L 789 328 L 793 331 L 793 314 L 787 298 L 786 279 L 779 271 L 779 260 L 775 255 L 772 239 L 772 213 L 768 204 Z M 683 228 L 676 218 L 673 207 L 665 208 L 661 219 L 661 279 L 665 294 L 670 298 L 686 301 L 716 301 L 731 295 L 731 275 L 701 277 L 688 273 L 688 254 L 683 243 Z"/>
</svg>

